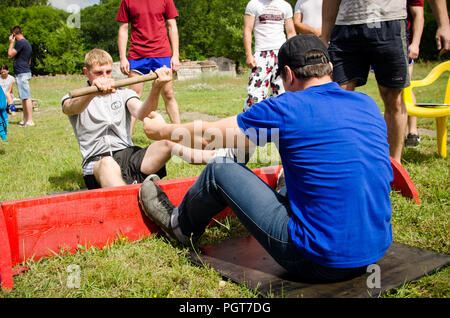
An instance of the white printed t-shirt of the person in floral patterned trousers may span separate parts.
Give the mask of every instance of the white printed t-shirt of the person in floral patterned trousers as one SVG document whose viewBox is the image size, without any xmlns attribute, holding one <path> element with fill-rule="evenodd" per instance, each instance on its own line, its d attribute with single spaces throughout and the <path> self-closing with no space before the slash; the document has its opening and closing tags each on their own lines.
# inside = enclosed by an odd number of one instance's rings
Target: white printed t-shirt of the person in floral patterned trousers
<svg viewBox="0 0 450 318">
<path fill-rule="evenodd" d="M 251 0 L 245 14 L 255 17 L 255 51 L 278 50 L 286 42 L 284 20 L 292 18 L 292 7 L 284 0 Z"/>
</svg>

